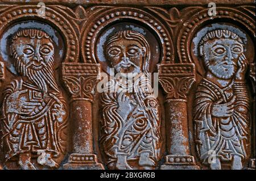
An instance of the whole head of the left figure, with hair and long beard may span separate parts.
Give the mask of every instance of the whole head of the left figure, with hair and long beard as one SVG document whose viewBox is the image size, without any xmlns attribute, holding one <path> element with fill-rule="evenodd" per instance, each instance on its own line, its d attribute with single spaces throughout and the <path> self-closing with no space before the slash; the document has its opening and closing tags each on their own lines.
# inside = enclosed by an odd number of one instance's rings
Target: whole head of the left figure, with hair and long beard
<svg viewBox="0 0 256 181">
<path fill-rule="evenodd" d="M 54 74 L 54 48 L 47 33 L 24 29 L 18 31 L 11 41 L 14 66 L 24 81 L 47 94 L 48 89 L 59 91 Z"/>
</svg>

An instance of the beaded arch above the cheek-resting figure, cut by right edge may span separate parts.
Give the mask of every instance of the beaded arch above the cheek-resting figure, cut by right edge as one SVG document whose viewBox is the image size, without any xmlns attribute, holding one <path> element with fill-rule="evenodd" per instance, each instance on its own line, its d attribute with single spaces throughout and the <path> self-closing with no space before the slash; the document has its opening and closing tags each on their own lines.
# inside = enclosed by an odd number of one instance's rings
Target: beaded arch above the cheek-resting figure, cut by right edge
<svg viewBox="0 0 256 181">
<path fill-rule="evenodd" d="M 205 9 L 189 18 L 180 30 L 177 38 L 177 52 L 180 63 L 194 62 L 191 56 L 191 42 L 193 37 L 205 24 L 216 23 L 216 19 L 220 19 L 219 22 L 222 22 L 221 19 L 228 19 L 230 23 L 238 22 L 247 28 L 246 31 L 250 33 L 250 36 L 255 38 L 255 20 L 250 16 L 239 10 L 227 7 L 218 7 L 216 16 L 209 16 L 208 9 Z"/>
</svg>

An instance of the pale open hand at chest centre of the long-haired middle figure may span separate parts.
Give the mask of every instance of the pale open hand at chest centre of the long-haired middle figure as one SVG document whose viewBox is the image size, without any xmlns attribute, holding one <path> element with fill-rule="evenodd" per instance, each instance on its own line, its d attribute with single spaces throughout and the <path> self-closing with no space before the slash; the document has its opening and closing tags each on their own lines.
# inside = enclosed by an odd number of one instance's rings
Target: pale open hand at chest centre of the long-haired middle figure
<svg viewBox="0 0 256 181">
<path fill-rule="evenodd" d="M 122 93 L 118 95 L 117 102 L 119 106 L 117 112 L 122 116 L 123 120 L 126 120 L 129 113 L 133 110 L 135 103 L 133 100 L 130 100 L 129 96 Z"/>
</svg>

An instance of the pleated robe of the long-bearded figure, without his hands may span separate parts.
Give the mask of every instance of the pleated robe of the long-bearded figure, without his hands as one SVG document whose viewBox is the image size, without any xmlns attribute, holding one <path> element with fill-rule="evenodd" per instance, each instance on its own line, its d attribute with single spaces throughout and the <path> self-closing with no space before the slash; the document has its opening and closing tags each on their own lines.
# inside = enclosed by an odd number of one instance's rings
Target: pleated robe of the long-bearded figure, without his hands
<svg viewBox="0 0 256 181">
<path fill-rule="evenodd" d="M 10 110 L 7 102 L 9 96 L 16 91 L 22 91 L 18 99 L 28 102 L 34 106 L 34 110 L 24 115 L 15 110 Z M 61 95 L 48 90 L 47 95 L 38 90 L 34 85 L 15 79 L 4 92 L 2 110 L 2 144 L 5 151 L 6 161 L 19 153 L 30 152 L 37 154 L 38 150 L 45 150 L 57 157 L 64 153 L 65 135 L 67 128 L 67 115 L 63 120 L 56 120 L 55 113 L 59 106 L 65 106 Z M 56 101 L 59 99 L 59 102 Z M 60 105 L 61 104 L 61 105 Z M 64 108 L 65 112 L 66 108 Z M 54 120 L 54 121 L 53 121 Z"/>
</svg>

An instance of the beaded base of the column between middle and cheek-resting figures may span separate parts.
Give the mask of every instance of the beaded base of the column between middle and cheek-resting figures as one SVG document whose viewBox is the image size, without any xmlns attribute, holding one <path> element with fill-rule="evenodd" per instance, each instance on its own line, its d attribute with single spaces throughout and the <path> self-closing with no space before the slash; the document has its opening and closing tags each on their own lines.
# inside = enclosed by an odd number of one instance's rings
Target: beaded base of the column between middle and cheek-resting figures
<svg viewBox="0 0 256 181">
<path fill-rule="evenodd" d="M 160 170 L 200 170 L 200 167 L 191 155 L 167 155 Z"/>
</svg>

